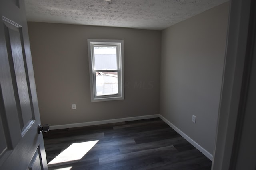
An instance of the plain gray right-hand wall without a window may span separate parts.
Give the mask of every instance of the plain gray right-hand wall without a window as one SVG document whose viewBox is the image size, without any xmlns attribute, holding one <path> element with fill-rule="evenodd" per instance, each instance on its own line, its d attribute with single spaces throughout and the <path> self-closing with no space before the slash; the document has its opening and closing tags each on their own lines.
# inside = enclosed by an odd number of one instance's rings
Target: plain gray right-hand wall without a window
<svg viewBox="0 0 256 170">
<path fill-rule="evenodd" d="M 160 114 L 210 154 L 216 136 L 228 9 L 229 2 L 162 31 Z"/>
</svg>

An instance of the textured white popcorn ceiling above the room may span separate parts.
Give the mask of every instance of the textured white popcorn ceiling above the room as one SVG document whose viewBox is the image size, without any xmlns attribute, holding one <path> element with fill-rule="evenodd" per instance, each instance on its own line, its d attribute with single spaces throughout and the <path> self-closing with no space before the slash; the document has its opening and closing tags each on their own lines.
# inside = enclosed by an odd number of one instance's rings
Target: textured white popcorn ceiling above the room
<svg viewBox="0 0 256 170">
<path fill-rule="evenodd" d="M 25 0 L 28 21 L 162 30 L 228 0 Z"/>
</svg>

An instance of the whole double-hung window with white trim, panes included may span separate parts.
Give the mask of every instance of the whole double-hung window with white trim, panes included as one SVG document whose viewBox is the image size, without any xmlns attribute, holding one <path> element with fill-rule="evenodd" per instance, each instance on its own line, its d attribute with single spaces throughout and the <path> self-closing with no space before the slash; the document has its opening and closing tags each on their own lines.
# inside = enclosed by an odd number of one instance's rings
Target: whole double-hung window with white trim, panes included
<svg viewBox="0 0 256 170">
<path fill-rule="evenodd" d="M 92 102 L 124 99 L 124 41 L 87 42 Z"/>
</svg>

